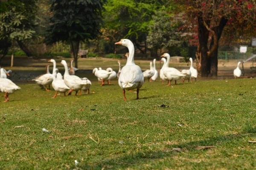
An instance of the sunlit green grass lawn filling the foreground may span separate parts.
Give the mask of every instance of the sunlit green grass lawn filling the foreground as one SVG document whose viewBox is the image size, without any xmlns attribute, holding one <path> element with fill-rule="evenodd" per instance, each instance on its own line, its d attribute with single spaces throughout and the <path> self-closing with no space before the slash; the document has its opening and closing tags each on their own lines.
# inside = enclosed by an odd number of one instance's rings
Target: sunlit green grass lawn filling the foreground
<svg viewBox="0 0 256 170">
<path fill-rule="evenodd" d="M 140 100 L 127 91 L 128 101 L 113 83 L 54 99 L 53 90 L 19 85 L 0 103 L 0 169 L 256 167 L 256 144 L 248 142 L 256 141 L 256 79 L 145 82 Z"/>
</svg>

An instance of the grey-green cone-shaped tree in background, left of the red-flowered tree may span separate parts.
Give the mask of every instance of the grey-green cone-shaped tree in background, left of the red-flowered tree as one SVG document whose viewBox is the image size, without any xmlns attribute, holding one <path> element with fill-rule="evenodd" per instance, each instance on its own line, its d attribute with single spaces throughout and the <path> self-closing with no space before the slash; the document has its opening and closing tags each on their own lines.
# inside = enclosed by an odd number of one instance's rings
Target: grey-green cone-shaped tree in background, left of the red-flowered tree
<svg viewBox="0 0 256 170">
<path fill-rule="evenodd" d="M 157 12 L 153 16 L 153 24 L 149 26 L 147 36 L 148 47 L 151 49 L 170 49 L 173 46 L 180 46 L 177 26 L 170 22 L 170 15 L 166 11 Z"/>
</svg>

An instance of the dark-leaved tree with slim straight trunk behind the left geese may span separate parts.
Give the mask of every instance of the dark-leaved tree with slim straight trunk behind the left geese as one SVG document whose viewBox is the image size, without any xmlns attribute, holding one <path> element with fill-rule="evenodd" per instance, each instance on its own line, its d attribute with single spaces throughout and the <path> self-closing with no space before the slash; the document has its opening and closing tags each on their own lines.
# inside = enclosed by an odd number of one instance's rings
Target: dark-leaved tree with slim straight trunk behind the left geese
<svg viewBox="0 0 256 170">
<path fill-rule="evenodd" d="M 79 42 L 96 38 L 100 33 L 102 10 L 105 0 L 50 0 L 50 26 L 45 42 L 68 42 L 74 56 L 75 66 Z"/>
</svg>

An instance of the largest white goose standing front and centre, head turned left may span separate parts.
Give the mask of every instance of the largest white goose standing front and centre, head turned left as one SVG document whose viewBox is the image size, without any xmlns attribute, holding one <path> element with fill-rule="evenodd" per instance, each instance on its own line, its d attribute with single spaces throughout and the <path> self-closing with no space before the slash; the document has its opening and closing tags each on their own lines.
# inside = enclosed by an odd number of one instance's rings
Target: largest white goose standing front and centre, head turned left
<svg viewBox="0 0 256 170">
<path fill-rule="evenodd" d="M 134 44 L 128 39 L 122 39 L 115 44 L 126 46 L 129 50 L 126 64 L 123 66 L 118 79 L 118 84 L 123 91 L 124 100 L 126 101 L 125 90 L 133 89 L 137 89 L 137 99 L 139 99 L 139 91 L 144 83 L 144 77 L 140 66 L 134 63 Z"/>
</svg>

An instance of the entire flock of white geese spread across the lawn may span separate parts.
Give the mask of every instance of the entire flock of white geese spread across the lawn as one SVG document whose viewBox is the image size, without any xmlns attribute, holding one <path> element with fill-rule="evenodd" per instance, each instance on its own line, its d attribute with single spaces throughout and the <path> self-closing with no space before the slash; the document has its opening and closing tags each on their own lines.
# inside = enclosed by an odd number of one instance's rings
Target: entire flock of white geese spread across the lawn
<svg viewBox="0 0 256 170">
<path fill-rule="evenodd" d="M 158 77 L 158 72 L 156 69 L 156 59 L 153 60 L 153 63 L 150 62 L 150 69 L 146 70 L 145 72 L 142 72 L 140 66 L 137 66 L 134 63 L 134 44 L 131 42 L 131 40 L 128 39 L 122 39 L 119 42 L 115 43 L 122 46 L 126 46 L 129 50 L 129 55 L 125 55 L 127 57 L 127 61 L 125 66 L 121 69 L 121 63 L 119 63 L 119 71 L 116 73 L 113 71 L 113 69 L 108 68 L 106 70 L 103 70 L 101 68 L 94 68 L 93 74 L 98 78 L 98 81 L 102 82 L 101 86 L 105 84 L 105 81 L 108 81 L 108 84 L 111 84 L 111 80 L 118 77 L 118 84 L 122 89 L 124 100 L 126 101 L 125 97 L 125 90 L 133 90 L 137 89 L 137 99 L 139 99 L 139 91 L 142 87 L 145 79 L 148 79 L 148 81 L 153 80 L 155 81 Z M 182 79 L 182 82 L 185 80 L 188 80 L 191 78 L 195 79 L 198 76 L 197 70 L 193 67 L 193 61 L 192 58 L 189 58 L 190 61 L 190 68 L 189 69 L 183 69 L 181 72 L 175 68 L 169 67 L 170 62 L 170 55 L 168 53 L 163 54 L 161 57 L 161 61 L 163 61 L 163 66 L 160 69 L 160 79 L 163 81 L 168 81 L 168 85 L 171 85 L 171 81 L 176 81 L 179 79 Z M 167 59 L 167 60 L 166 60 Z M 71 92 L 75 91 L 76 95 L 79 91 L 79 95 L 81 95 L 81 90 L 84 92 L 88 91 L 88 94 L 90 94 L 90 85 L 91 82 L 87 78 L 79 78 L 75 75 L 75 71 L 77 70 L 75 67 L 72 66 L 73 60 L 70 62 L 70 69 L 68 69 L 67 62 L 62 60 L 61 64 L 65 68 L 64 76 L 61 75 L 61 73 L 58 72 L 58 69 L 56 68 L 56 61 L 51 59 L 48 62 L 53 63 L 53 69 L 52 74 L 49 72 L 49 65 L 46 67 L 46 74 L 40 75 L 33 79 L 36 84 L 40 85 L 41 87 L 45 87 L 46 91 L 49 91 L 50 89 L 47 89 L 47 86 L 50 88 L 50 84 L 52 84 L 53 89 L 56 91 L 55 95 L 52 98 L 55 98 L 58 94 L 64 93 L 64 96 L 66 96 L 66 92 L 68 92 L 68 95 L 71 95 Z M 234 70 L 234 76 L 240 77 L 241 70 L 239 69 L 239 64 L 237 68 Z M 9 94 L 15 92 L 16 90 L 20 89 L 19 86 L 14 84 L 11 80 L 7 78 L 8 73 L 11 72 L 11 70 L 6 71 L 5 69 L 0 69 L 0 91 L 5 93 L 5 101 L 9 101 Z M 63 78 L 64 77 L 64 78 Z"/>
</svg>

